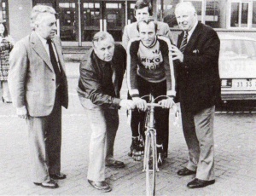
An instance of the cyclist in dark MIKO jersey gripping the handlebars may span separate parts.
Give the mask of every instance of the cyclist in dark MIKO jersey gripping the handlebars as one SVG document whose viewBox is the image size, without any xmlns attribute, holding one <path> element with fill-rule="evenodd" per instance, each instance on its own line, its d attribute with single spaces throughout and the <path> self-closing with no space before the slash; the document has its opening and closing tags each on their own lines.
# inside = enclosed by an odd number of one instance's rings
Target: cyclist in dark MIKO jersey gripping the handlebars
<svg viewBox="0 0 256 196">
<path fill-rule="evenodd" d="M 129 94 L 140 111 L 147 109 L 147 102 L 140 98 L 143 95 L 151 93 L 154 97 L 169 96 L 158 101 L 166 109 L 155 108 L 157 150 L 160 159 L 164 159 L 166 154 L 163 153 L 166 152 L 163 151 L 163 141 L 165 141 L 169 131 L 168 109 L 173 105 L 172 99 L 176 92 L 173 63 L 172 59 L 169 58 L 171 42 L 166 37 L 157 36 L 157 29 L 157 22 L 152 18 L 137 23 L 139 37 L 131 39 L 127 47 L 127 83 Z M 144 113 L 138 112 L 138 110 L 131 114 L 131 126 L 134 125 L 132 121 L 136 119 L 139 119 L 141 123 L 143 122 Z M 136 130 L 136 127 L 132 127 L 132 130 Z M 133 150 L 136 151 L 137 149 Z"/>
</svg>

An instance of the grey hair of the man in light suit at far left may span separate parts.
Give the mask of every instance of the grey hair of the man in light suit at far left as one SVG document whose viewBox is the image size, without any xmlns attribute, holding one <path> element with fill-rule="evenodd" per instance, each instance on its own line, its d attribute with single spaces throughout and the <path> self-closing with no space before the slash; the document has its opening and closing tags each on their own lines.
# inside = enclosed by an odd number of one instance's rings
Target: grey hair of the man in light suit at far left
<svg viewBox="0 0 256 196">
<path fill-rule="evenodd" d="M 48 5 L 36 5 L 33 7 L 30 15 L 30 26 L 32 30 L 35 30 L 36 21 L 38 20 L 38 15 L 42 13 L 56 14 L 55 9 Z"/>
</svg>

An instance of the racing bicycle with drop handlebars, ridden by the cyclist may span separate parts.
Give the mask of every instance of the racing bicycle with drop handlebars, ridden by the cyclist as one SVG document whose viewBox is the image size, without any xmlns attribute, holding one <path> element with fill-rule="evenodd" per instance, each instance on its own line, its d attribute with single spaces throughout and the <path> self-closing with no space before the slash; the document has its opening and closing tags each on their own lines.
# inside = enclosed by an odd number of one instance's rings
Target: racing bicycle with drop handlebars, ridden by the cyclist
<svg viewBox="0 0 256 196">
<path fill-rule="evenodd" d="M 154 107 L 161 107 L 160 104 L 155 103 L 160 97 L 166 97 L 166 95 L 160 95 L 154 99 L 152 95 L 144 95 L 142 98 L 149 97 L 147 103 L 148 111 L 145 117 L 145 141 L 144 141 L 144 159 L 143 159 L 143 171 L 146 172 L 146 193 L 147 195 L 155 194 L 155 172 L 160 171 L 158 168 L 157 160 L 157 147 L 156 147 L 156 130 L 154 129 Z M 176 110 L 176 124 L 178 119 L 177 106 L 173 105 Z M 142 155 L 142 154 L 140 154 Z M 135 159 L 135 158 L 134 158 Z M 159 157 L 160 159 L 160 157 Z M 161 161 L 161 160 L 160 160 Z"/>
</svg>

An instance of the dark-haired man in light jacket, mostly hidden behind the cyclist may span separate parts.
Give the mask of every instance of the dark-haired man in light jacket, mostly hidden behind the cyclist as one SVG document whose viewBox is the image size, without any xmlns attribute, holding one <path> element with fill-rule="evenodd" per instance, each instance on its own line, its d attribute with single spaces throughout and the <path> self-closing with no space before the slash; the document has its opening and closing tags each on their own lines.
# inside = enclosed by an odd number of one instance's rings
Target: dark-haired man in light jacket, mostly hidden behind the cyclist
<svg viewBox="0 0 256 196">
<path fill-rule="evenodd" d="M 133 22 L 130 25 L 125 26 L 124 34 L 122 37 L 122 44 L 125 49 L 127 49 L 128 42 L 132 38 L 140 37 L 139 32 L 137 31 L 137 23 L 139 21 L 147 20 L 149 16 L 153 15 L 152 5 L 148 1 L 145 0 L 138 0 L 135 4 L 134 8 L 134 15 L 137 19 L 137 22 Z M 169 26 L 164 22 L 156 22 L 157 24 L 157 35 L 161 35 L 164 37 L 168 37 L 173 42 L 172 32 L 170 32 Z M 131 99 L 131 96 L 128 94 L 128 98 Z M 167 130 L 169 130 L 168 124 Z M 132 154 L 138 153 L 141 150 L 143 150 L 143 145 L 141 144 L 141 140 L 139 139 L 139 128 L 142 130 L 143 128 L 143 122 L 140 122 L 139 118 L 135 115 L 134 112 L 131 112 L 131 152 L 128 153 L 129 156 L 132 156 Z M 140 133 L 142 134 L 142 133 Z M 169 142 L 169 132 L 166 132 L 165 140 L 163 142 L 164 146 L 164 158 L 167 157 L 168 154 L 168 142 Z"/>
</svg>

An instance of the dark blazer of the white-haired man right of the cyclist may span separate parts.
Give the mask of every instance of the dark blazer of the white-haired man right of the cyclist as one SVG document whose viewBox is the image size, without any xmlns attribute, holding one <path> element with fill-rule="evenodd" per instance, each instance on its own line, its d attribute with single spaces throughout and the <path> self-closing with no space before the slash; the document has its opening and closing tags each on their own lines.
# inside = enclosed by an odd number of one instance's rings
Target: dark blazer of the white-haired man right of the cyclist
<svg viewBox="0 0 256 196">
<path fill-rule="evenodd" d="M 177 47 L 183 39 L 178 36 Z M 218 73 L 219 38 L 210 27 L 198 23 L 183 52 L 183 63 L 176 62 L 179 101 L 191 112 L 211 107 L 220 101 Z"/>
</svg>

